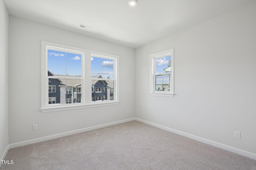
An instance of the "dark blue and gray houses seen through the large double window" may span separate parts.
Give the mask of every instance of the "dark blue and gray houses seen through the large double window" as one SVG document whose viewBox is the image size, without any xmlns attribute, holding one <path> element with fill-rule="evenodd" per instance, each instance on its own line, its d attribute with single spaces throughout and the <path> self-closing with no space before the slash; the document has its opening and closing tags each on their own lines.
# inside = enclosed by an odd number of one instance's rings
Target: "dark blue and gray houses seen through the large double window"
<svg viewBox="0 0 256 170">
<path fill-rule="evenodd" d="M 48 76 L 65 76 L 52 74 L 48 71 Z M 73 77 L 73 76 L 72 76 Z M 102 78 L 102 76 L 91 76 L 92 78 Z M 71 104 L 81 103 L 82 86 L 81 80 L 74 79 L 49 79 L 49 104 Z M 114 100 L 113 81 L 92 80 L 92 101 Z"/>
</svg>

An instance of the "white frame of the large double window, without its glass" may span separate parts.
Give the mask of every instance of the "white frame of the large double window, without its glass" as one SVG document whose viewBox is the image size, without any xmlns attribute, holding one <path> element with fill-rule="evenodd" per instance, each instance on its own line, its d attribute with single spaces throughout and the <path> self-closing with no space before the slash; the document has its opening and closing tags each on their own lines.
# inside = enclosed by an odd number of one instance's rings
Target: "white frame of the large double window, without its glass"
<svg viewBox="0 0 256 170">
<path fill-rule="evenodd" d="M 82 76 L 78 79 L 81 79 L 81 94 L 82 98 L 79 100 L 78 103 L 72 103 L 72 104 L 48 104 L 48 68 L 47 68 L 47 52 L 48 49 L 54 48 L 56 49 L 66 49 L 69 52 L 79 52 L 82 53 Z M 114 59 L 114 94 L 115 94 L 115 100 L 109 101 L 99 101 L 99 102 L 92 102 L 92 84 L 91 84 L 91 56 L 95 57 L 104 57 L 104 58 L 111 58 Z M 47 41 L 42 41 L 42 72 L 41 72 L 41 111 L 44 112 L 51 112 L 51 111 L 63 111 L 63 110 L 70 110 L 70 109 L 81 109 L 81 108 L 88 108 L 88 107 L 99 107 L 99 106 L 110 106 L 110 105 L 116 105 L 119 104 L 119 56 L 107 54 L 107 53 L 101 53 L 98 51 L 91 51 L 87 49 L 81 49 L 76 47 L 70 47 L 68 45 L 61 45 L 57 43 L 51 43 Z M 109 79 L 108 79 L 109 80 Z M 78 89 L 77 89 L 77 93 Z M 81 101 L 79 103 L 79 101 Z"/>
</svg>

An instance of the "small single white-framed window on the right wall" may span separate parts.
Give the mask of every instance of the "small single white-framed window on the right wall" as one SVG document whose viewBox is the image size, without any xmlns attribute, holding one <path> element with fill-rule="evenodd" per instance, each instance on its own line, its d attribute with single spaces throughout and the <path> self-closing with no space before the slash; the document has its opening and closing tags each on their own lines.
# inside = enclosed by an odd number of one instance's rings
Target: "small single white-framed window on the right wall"
<svg viewBox="0 0 256 170">
<path fill-rule="evenodd" d="M 150 55 L 150 95 L 174 96 L 174 49 Z"/>
</svg>

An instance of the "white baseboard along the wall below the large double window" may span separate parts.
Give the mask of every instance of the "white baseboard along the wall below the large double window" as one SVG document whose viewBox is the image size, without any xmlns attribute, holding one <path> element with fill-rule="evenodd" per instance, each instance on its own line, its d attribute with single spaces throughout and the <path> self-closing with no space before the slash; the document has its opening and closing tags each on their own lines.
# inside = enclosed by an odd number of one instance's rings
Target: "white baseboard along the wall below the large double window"
<svg viewBox="0 0 256 170">
<path fill-rule="evenodd" d="M 132 120 L 135 120 L 135 118 L 125 119 L 125 120 L 121 120 L 121 121 L 115 121 L 115 122 L 106 123 L 106 124 L 102 124 L 102 125 L 96 125 L 96 126 L 92 126 L 92 127 L 86 127 L 86 128 L 83 128 L 83 129 L 78 129 L 78 130 L 64 132 L 64 133 L 58 133 L 56 135 L 40 137 L 40 138 L 36 138 L 36 139 L 31 139 L 31 140 L 28 140 L 28 141 L 12 143 L 8 146 L 9 146 L 10 149 L 12 149 L 12 148 L 21 147 L 21 146 L 24 146 L 24 145 L 30 145 L 30 144 L 33 144 L 33 143 L 38 143 L 38 142 L 48 141 L 48 140 L 51 140 L 51 139 L 56 139 L 56 138 L 59 138 L 59 137 L 73 135 L 73 134 L 76 134 L 76 133 L 91 131 L 91 130 L 99 129 L 99 128 L 102 128 L 102 127 L 117 125 L 117 124 L 120 124 L 120 123 L 125 123 L 125 122 L 128 122 L 128 121 L 132 121 Z"/>
</svg>

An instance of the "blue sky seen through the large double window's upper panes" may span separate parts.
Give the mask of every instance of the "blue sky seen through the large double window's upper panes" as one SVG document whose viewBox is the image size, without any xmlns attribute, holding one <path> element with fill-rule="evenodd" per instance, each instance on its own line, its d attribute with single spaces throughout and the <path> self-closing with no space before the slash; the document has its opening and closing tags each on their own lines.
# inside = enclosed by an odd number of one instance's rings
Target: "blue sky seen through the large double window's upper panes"
<svg viewBox="0 0 256 170">
<path fill-rule="evenodd" d="M 81 76 L 81 55 L 48 50 L 48 70 L 53 74 Z M 114 61 L 91 57 L 91 75 L 114 78 Z"/>
</svg>

